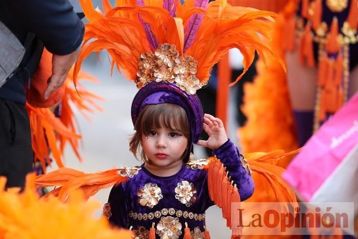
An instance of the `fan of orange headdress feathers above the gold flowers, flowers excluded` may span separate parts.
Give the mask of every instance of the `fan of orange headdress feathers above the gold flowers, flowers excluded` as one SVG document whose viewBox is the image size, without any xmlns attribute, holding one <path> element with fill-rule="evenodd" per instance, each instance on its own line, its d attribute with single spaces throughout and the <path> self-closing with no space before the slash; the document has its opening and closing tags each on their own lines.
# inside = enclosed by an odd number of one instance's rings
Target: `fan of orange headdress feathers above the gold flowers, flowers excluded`
<svg viewBox="0 0 358 239">
<path fill-rule="evenodd" d="M 233 7 L 226 0 L 209 3 L 206 9 L 194 7 L 194 1 L 185 1 L 183 5 L 177 4 L 176 17 L 173 17 L 161 5 L 163 1 L 147 0 L 145 6 L 133 2 L 136 1 L 117 1 L 112 7 L 103 0 L 102 13 L 93 8 L 91 1 L 80 0 L 89 23 L 74 68 L 75 85 L 81 63 L 91 52 L 106 49 L 112 66 L 126 78 L 135 80 L 140 55 L 154 50 L 153 45 L 164 43 L 175 45 L 180 54 L 194 57 L 198 62 L 196 77 L 200 83 L 208 81 L 212 66 L 231 48 L 238 48 L 244 56 L 242 74 L 252 63 L 255 50 L 263 61 L 266 53 L 272 55 L 285 70 L 282 59 L 259 37 L 270 38 L 272 28 L 266 20 L 273 20 L 272 17 L 277 15 L 273 12 Z M 189 41 L 191 44 L 186 47 L 183 45 L 188 34 L 186 27 L 191 24 L 194 14 L 202 14 L 203 19 L 193 42 Z"/>
</svg>

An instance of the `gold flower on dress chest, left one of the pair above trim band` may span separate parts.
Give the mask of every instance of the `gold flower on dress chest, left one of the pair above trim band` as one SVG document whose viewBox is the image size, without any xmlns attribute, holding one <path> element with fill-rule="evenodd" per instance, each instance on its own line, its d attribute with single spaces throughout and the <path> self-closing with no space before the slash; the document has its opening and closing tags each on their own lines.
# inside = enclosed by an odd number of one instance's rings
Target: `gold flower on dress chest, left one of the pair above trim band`
<svg viewBox="0 0 358 239">
<path fill-rule="evenodd" d="M 153 183 L 146 183 L 141 187 L 137 196 L 139 197 L 138 203 L 149 208 L 153 208 L 163 198 L 162 189 Z"/>
</svg>

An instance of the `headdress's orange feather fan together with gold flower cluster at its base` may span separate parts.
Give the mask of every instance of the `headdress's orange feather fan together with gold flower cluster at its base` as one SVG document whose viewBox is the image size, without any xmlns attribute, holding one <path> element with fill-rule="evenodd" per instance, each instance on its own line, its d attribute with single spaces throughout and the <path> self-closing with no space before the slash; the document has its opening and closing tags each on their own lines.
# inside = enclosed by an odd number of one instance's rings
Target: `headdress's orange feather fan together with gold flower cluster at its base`
<svg viewBox="0 0 358 239">
<path fill-rule="evenodd" d="M 182 84 L 195 84 L 191 89 L 181 87 L 191 94 L 207 83 L 212 66 L 231 48 L 244 57 L 242 74 L 255 50 L 263 61 L 264 53 L 269 53 L 285 68 L 281 58 L 261 42 L 261 36 L 270 38 L 272 28 L 265 20 L 272 20 L 273 12 L 233 7 L 226 0 L 188 0 L 183 5 L 178 0 L 118 0 L 115 7 L 103 0 L 104 12 L 94 9 L 90 0 L 80 3 L 89 23 L 75 65 L 75 85 L 83 59 L 104 49 L 111 56 L 112 70 L 116 66 L 139 88 L 168 77 L 178 85 L 176 79 L 184 78 Z M 175 54 L 163 52 L 163 45 Z M 149 52 L 154 52 L 154 63 L 148 60 Z"/>
</svg>

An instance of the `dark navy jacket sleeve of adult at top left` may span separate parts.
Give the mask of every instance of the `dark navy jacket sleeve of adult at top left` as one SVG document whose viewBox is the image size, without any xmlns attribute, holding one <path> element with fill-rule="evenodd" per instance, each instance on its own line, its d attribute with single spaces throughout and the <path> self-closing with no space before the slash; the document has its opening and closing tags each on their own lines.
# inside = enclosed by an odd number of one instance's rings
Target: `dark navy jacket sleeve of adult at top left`
<svg viewBox="0 0 358 239">
<path fill-rule="evenodd" d="M 84 25 L 68 0 L 7 1 L 21 28 L 33 32 L 53 54 L 70 54 L 81 45 Z"/>
</svg>

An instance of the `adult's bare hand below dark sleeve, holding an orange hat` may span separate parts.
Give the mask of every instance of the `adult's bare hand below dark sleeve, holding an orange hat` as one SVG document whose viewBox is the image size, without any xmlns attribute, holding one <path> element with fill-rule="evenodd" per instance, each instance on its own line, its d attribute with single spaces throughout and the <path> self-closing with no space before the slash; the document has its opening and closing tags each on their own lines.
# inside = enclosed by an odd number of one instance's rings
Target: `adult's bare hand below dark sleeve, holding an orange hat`
<svg viewBox="0 0 358 239">
<path fill-rule="evenodd" d="M 75 62 L 76 51 L 68 55 L 52 55 L 52 75 L 50 76 L 48 86 L 43 92 L 45 99 L 54 93 L 63 84 L 73 63 Z"/>
</svg>

